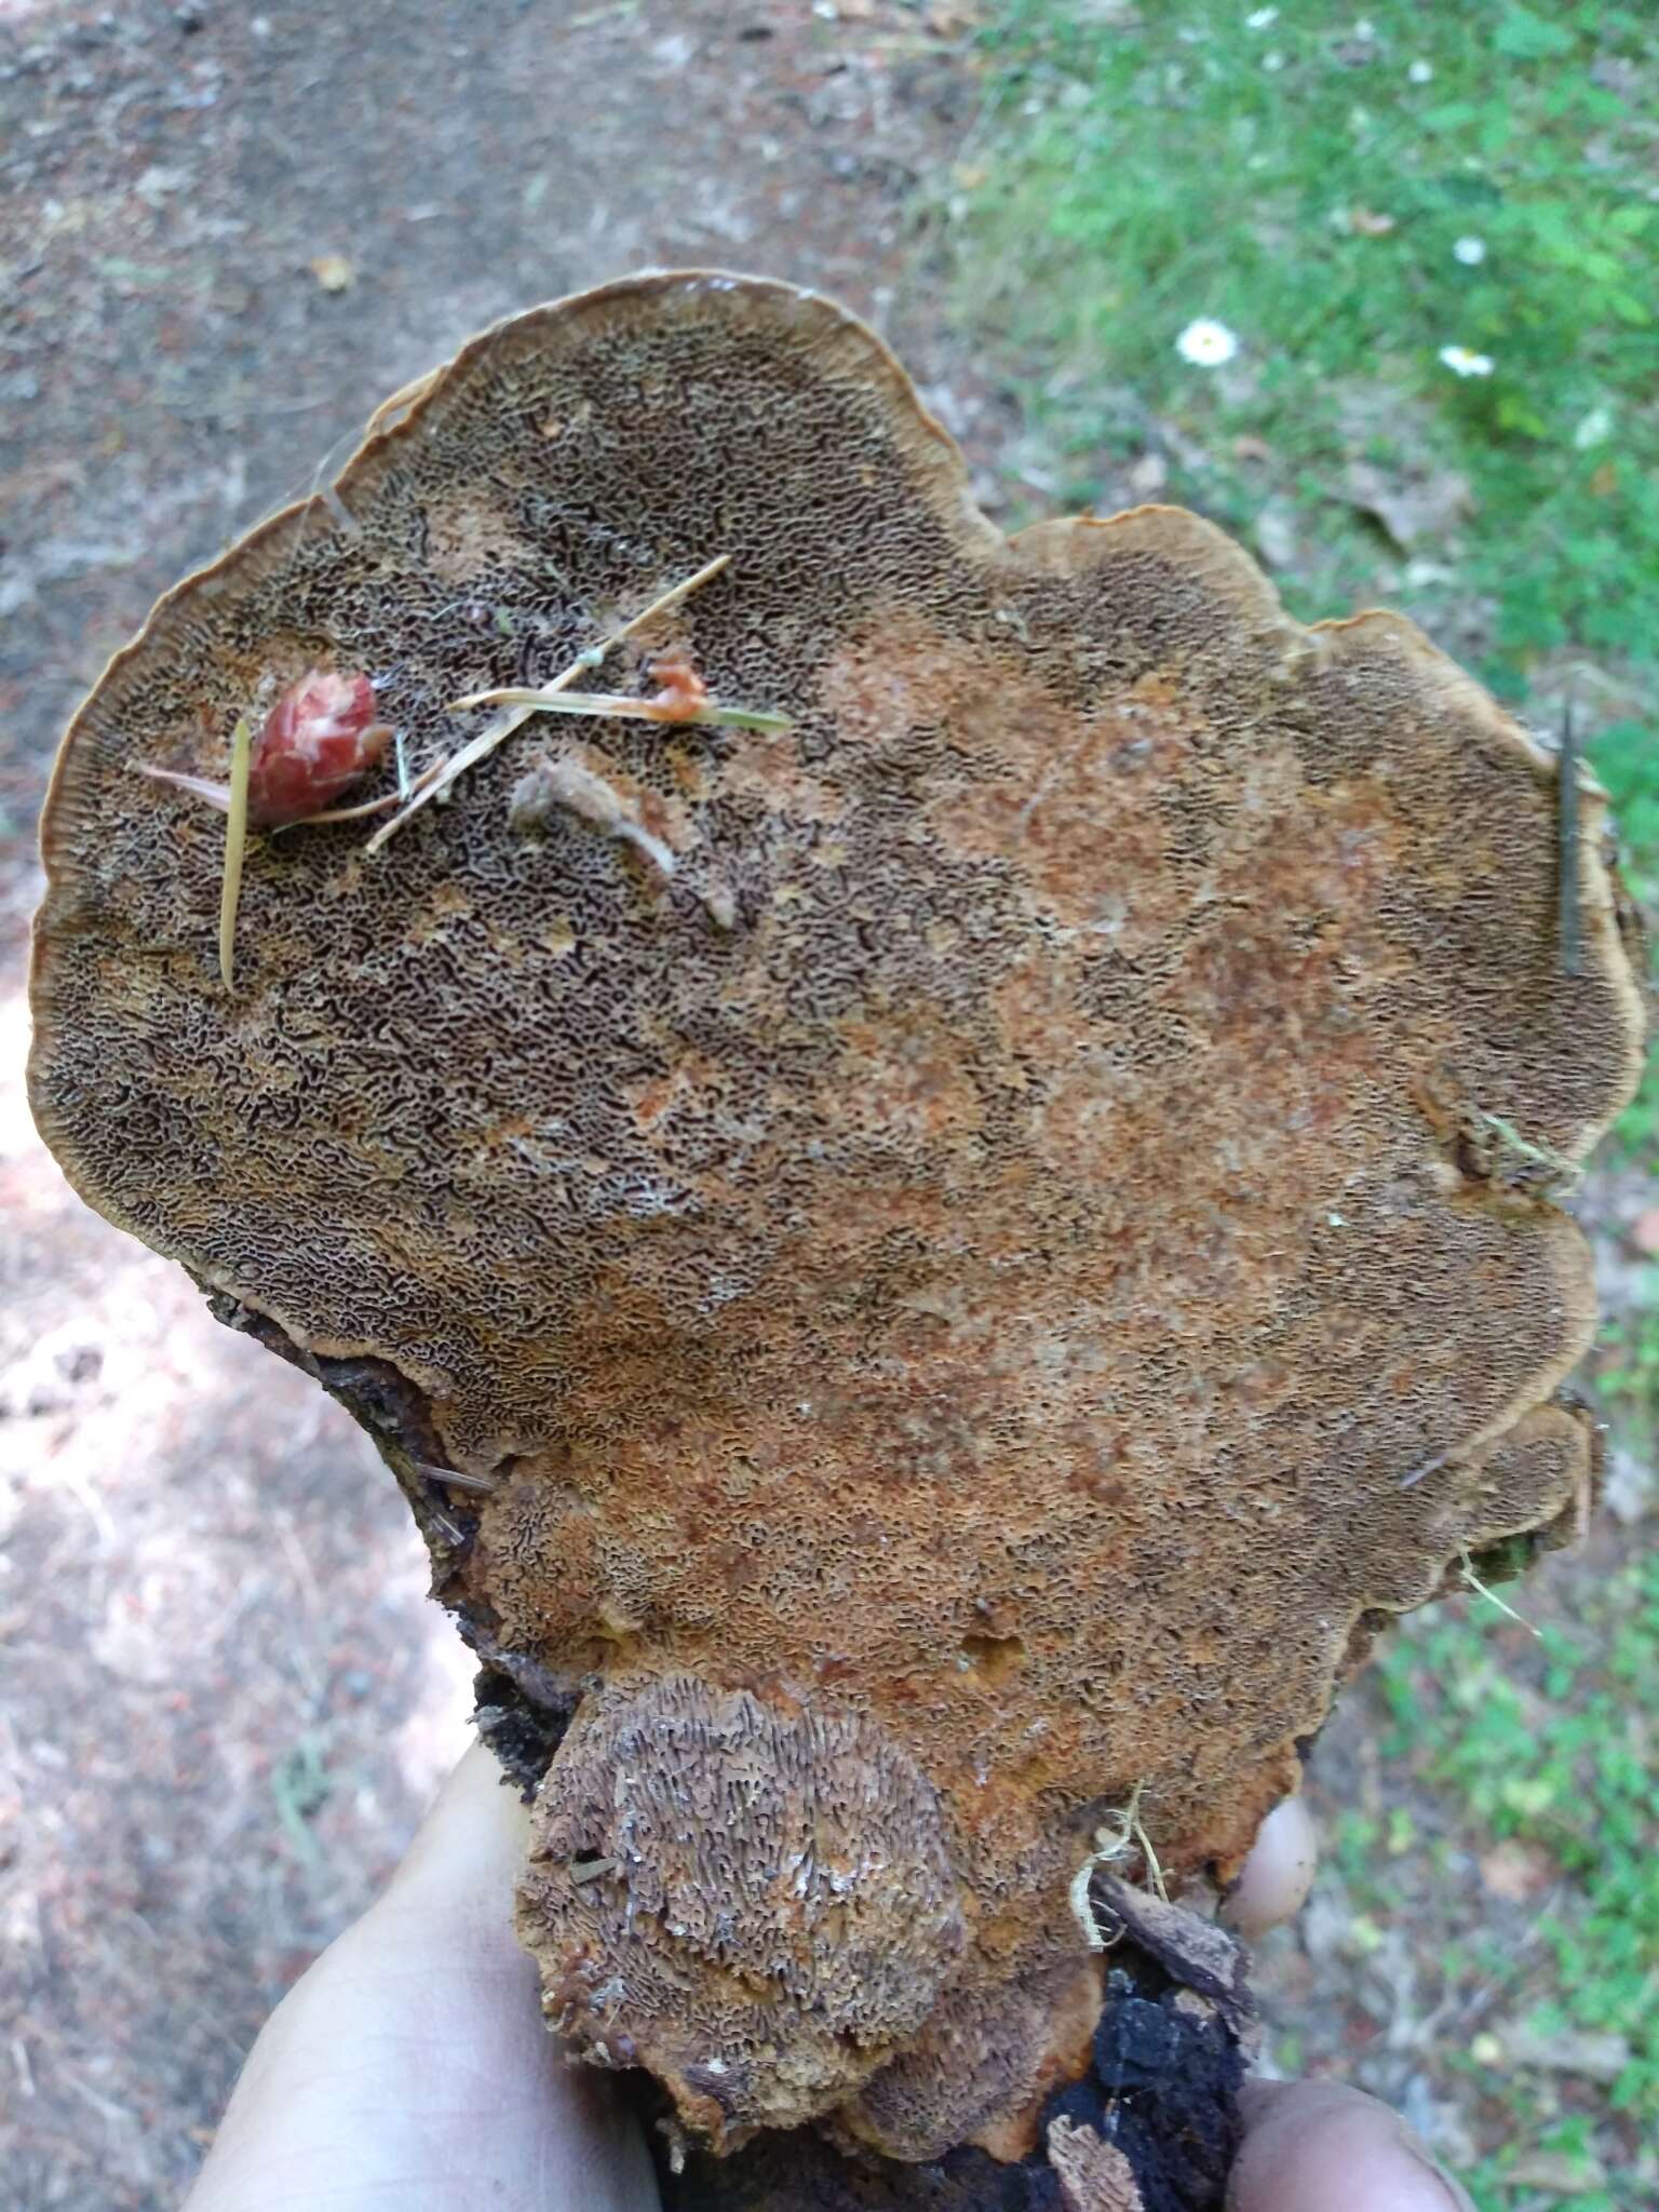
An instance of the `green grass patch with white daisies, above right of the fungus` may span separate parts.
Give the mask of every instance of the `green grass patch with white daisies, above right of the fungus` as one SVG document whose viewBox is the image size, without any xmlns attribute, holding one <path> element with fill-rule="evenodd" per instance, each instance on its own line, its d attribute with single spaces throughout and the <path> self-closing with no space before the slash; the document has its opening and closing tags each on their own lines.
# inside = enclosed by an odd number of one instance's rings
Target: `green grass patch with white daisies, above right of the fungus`
<svg viewBox="0 0 1659 2212">
<path fill-rule="evenodd" d="M 1303 498 L 1347 504 L 1356 398 L 1385 387 L 1413 403 L 1411 458 L 1469 476 L 1467 573 L 1498 599 L 1486 675 L 1517 692 L 1568 644 L 1652 664 L 1652 18 L 1597 0 L 1380 0 L 1358 27 L 1329 0 L 1124 13 L 995 11 L 1000 131 L 956 201 L 969 307 L 1066 372 L 1051 414 L 1073 458 L 1113 440 L 1093 376 L 1219 453 L 1261 436 Z M 1234 363 L 1181 358 L 1194 319 L 1237 334 Z M 1491 372 L 1460 376 L 1444 347 Z M 1398 460 L 1400 429 L 1378 407 L 1365 458 Z M 1214 489 L 1248 504 L 1248 478 Z"/>
</svg>

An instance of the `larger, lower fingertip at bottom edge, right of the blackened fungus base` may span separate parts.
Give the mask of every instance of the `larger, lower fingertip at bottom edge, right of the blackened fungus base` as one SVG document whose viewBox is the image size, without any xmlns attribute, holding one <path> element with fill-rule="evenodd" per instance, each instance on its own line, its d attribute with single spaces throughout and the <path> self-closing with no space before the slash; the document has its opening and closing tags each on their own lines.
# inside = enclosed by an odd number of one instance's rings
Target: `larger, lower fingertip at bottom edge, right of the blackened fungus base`
<svg viewBox="0 0 1659 2212">
<path fill-rule="evenodd" d="M 1228 2212 L 1475 2212 L 1398 2112 L 1340 2081 L 1254 2084 L 1245 2128 Z"/>
</svg>

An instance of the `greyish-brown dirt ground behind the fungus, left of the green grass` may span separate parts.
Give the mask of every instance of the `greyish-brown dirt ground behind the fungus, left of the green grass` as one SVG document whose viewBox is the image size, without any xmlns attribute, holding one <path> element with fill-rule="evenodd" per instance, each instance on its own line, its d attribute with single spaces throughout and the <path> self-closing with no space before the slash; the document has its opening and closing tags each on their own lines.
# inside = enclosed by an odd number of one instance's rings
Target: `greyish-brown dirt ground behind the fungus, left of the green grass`
<svg viewBox="0 0 1659 2212">
<path fill-rule="evenodd" d="M 978 113 L 964 22 L 0 0 L 0 2172 L 27 2212 L 177 2203 L 252 2033 L 385 1878 L 467 1712 L 367 1442 L 33 1135 L 58 730 L 155 593 L 310 491 L 387 392 L 646 263 L 847 299 L 995 504 L 1018 422 L 945 330 L 916 226 Z M 1365 1743 L 1356 1703 L 1321 1745 L 1327 1812 L 1376 1787 Z M 1367 2013 L 1383 1969 L 1347 1960 L 1340 1891 L 1321 1911 L 1267 1960 L 1279 2028 L 1460 2150 L 1420 2064 L 1431 2006 Z M 1420 1971 L 1409 1933 L 1383 1966 Z"/>
</svg>

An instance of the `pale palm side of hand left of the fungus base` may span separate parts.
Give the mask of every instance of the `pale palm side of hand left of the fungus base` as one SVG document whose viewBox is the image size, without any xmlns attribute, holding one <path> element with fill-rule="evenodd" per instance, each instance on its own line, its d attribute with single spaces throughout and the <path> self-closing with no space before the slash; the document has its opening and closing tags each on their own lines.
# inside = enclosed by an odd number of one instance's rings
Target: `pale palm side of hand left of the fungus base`
<svg viewBox="0 0 1659 2212">
<path fill-rule="evenodd" d="M 265 2022 L 186 2212 L 655 2212 L 611 2084 L 542 2024 L 511 1920 L 526 1838 L 476 1743 Z"/>
</svg>

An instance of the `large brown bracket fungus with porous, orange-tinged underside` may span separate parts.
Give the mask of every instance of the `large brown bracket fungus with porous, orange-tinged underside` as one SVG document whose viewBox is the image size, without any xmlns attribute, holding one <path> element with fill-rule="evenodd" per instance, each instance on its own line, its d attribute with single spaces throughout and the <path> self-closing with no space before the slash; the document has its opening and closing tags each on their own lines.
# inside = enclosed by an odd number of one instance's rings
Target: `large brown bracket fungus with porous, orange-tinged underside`
<svg viewBox="0 0 1659 2212">
<path fill-rule="evenodd" d="M 416 799 L 252 838 L 228 991 L 128 768 L 325 672 Z M 796 2128 L 1128 2201 L 1079 1869 L 1225 1882 L 1387 1617 L 1577 1524 L 1641 1004 L 1557 799 L 1409 622 L 1179 509 L 1004 538 L 860 323 L 706 272 L 471 341 L 75 717 L 40 1126 L 378 1438 L 549 2020 L 703 2199 Z"/>
</svg>

